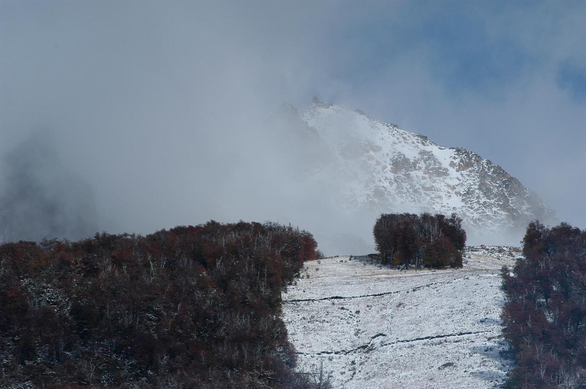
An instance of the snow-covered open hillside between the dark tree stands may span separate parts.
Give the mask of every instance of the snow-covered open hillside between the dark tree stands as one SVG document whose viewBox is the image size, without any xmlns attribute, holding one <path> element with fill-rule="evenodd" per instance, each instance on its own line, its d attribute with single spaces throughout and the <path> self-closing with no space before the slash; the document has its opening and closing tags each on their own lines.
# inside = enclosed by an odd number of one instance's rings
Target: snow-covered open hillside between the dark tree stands
<svg viewBox="0 0 586 389">
<path fill-rule="evenodd" d="M 283 294 L 300 370 L 334 388 L 492 388 L 510 361 L 499 271 L 516 253 L 476 247 L 463 269 L 400 271 L 367 257 L 308 262 Z"/>
</svg>

